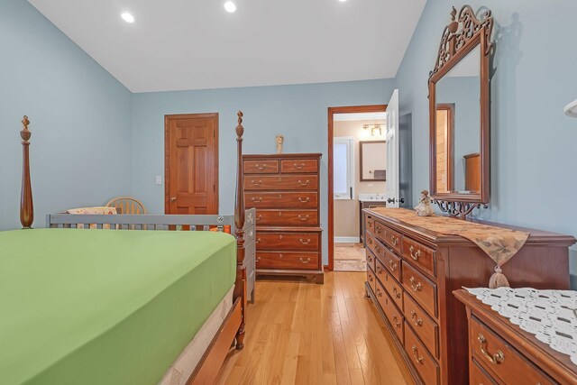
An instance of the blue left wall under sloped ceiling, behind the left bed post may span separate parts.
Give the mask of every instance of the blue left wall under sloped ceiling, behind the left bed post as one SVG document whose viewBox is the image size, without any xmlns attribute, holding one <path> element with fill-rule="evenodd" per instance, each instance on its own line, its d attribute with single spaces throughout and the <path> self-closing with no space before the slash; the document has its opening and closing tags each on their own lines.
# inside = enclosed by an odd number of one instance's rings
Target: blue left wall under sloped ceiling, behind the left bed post
<svg viewBox="0 0 577 385">
<path fill-rule="evenodd" d="M 23 115 L 36 226 L 130 193 L 132 94 L 23 0 L 0 2 L 0 230 L 19 222 Z"/>
</svg>

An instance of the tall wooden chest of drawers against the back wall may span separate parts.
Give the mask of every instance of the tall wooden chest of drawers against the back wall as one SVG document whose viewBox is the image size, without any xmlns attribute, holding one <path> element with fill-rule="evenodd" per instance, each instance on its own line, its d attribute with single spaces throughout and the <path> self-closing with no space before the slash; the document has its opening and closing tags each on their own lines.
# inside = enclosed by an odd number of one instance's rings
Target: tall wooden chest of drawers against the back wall
<svg viewBox="0 0 577 385">
<path fill-rule="evenodd" d="M 256 208 L 257 275 L 323 283 L 320 153 L 244 155 L 244 204 Z"/>
</svg>

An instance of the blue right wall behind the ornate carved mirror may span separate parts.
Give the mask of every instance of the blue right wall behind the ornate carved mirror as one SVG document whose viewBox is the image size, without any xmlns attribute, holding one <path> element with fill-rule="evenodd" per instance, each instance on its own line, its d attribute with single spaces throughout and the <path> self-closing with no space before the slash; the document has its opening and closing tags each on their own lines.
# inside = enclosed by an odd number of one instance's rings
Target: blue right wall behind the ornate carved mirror
<svg viewBox="0 0 577 385">
<path fill-rule="evenodd" d="M 492 10 L 496 52 L 491 87 L 491 201 L 478 215 L 577 236 L 577 98 L 574 0 L 472 0 Z M 413 118 L 413 191 L 428 186 L 428 73 L 448 0 L 429 0 L 398 70 L 401 115 Z M 572 250 L 572 274 L 577 252 Z M 573 288 L 577 280 L 573 276 Z"/>
</svg>

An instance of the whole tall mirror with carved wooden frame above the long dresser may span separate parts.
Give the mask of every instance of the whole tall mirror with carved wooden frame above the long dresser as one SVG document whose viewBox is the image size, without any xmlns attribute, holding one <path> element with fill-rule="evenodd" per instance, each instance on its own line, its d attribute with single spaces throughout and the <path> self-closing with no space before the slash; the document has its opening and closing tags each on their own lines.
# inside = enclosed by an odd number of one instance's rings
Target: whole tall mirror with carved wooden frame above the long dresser
<svg viewBox="0 0 577 385">
<path fill-rule="evenodd" d="M 430 189 L 449 215 L 490 199 L 490 11 L 463 6 L 443 32 L 429 74 Z"/>
</svg>

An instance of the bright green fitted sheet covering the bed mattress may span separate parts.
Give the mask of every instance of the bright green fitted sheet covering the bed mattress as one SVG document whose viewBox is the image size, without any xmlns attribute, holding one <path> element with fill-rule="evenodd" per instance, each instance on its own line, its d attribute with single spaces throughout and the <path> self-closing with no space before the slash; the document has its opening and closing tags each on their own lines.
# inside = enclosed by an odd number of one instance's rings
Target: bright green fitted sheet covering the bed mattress
<svg viewBox="0 0 577 385">
<path fill-rule="evenodd" d="M 214 232 L 0 232 L 0 383 L 155 384 L 236 274 Z"/>
</svg>

